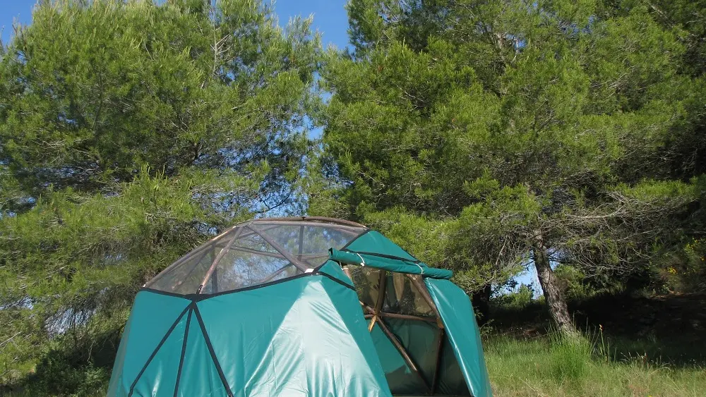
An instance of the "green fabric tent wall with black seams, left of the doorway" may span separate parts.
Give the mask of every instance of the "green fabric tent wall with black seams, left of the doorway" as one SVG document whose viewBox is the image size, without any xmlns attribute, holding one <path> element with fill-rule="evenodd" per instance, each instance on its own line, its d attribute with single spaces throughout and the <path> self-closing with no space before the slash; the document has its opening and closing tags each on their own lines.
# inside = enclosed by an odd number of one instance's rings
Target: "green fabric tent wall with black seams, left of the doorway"
<svg viewBox="0 0 706 397">
<path fill-rule="evenodd" d="M 133 314 L 173 312 L 182 300 L 140 291 Z M 109 396 L 171 397 L 178 373 L 177 396 L 391 396 L 355 292 L 328 276 L 312 273 L 190 307 L 161 345 L 121 346 L 114 368 L 133 370 L 114 372 Z M 129 340 L 164 329 L 159 315 L 129 322 L 143 325 L 140 334 L 126 329 Z"/>
</svg>

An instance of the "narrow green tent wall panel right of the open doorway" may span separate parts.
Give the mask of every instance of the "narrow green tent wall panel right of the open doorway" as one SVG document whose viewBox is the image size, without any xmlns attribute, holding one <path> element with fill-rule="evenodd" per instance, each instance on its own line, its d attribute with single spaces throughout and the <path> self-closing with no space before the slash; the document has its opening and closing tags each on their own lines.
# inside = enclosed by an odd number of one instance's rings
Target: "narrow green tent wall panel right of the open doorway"
<svg viewBox="0 0 706 397">
<path fill-rule="evenodd" d="M 491 397 L 481 336 L 468 295 L 448 280 L 424 279 L 474 397 Z"/>
</svg>

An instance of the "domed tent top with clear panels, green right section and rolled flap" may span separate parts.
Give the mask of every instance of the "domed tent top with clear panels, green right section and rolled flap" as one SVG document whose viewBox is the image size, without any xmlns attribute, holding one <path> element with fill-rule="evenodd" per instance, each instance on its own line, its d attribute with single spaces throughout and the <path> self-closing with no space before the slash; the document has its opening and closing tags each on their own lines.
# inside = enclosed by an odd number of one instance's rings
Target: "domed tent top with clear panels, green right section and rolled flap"
<svg viewBox="0 0 706 397">
<path fill-rule="evenodd" d="M 353 243 L 361 247 L 354 249 Z M 378 246 L 379 252 L 366 249 Z M 393 246 L 395 255 L 381 253 Z M 309 273 L 328 259 L 342 264 L 365 262 L 437 279 L 451 277 L 451 271 L 427 266 L 364 225 L 298 216 L 253 219 L 232 226 L 177 259 L 145 287 L 182 295 L 222 293 Z"/>
</svg>

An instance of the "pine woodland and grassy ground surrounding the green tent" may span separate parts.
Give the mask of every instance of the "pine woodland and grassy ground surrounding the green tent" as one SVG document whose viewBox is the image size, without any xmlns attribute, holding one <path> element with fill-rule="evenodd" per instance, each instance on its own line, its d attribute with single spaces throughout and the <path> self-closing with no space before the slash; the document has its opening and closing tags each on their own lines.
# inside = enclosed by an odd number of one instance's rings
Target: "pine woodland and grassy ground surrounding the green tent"
<svg viewBox="0 0 706 397">
<path fill-rule="evenodd" d="M 276 9 L 40 1 L 4 33 L 0 391 L 104 392 L 139 286 L 283 214 L 453 269 L 498 396 L 706 389 L 706 3 L 350 0 L 347 48 Z"/>
</svg>

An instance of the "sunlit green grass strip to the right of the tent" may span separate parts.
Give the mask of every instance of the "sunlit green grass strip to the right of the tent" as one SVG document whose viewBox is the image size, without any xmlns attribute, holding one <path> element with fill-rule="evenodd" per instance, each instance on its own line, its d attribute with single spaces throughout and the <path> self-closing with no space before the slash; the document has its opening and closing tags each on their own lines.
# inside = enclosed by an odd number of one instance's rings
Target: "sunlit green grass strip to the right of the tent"
<svg viewBox="0 0 706 397">
<path fill-rule="evenodd" d="M 484 350 L 493 396 L 701 397 L 706 391 L 706 368 L 700 365 L 618 355 L 632 346 L 620 341 L 610 346 L 602 333 L 573 341 L 554 335 L 488 336 Z"/>
</svg>

